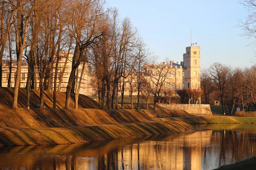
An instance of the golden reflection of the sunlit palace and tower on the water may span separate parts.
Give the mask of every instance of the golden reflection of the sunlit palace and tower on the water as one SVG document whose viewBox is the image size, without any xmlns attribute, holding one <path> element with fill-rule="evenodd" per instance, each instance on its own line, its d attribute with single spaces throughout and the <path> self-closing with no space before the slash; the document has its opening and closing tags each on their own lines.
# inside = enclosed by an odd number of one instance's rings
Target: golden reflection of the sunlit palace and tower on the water
<svg viewBox="0 0 256 170">
<path fill-rule="evenodd" d="M 161 142 L 132 144 L 119 150 L 119 164 L 131 169 L 140 166 L 140 169 L 200 170 L 202 148 L 210 144 L 211 135 L 212 130 L 207 130 L 174 139 L 169 136 Z"/>
</svg>

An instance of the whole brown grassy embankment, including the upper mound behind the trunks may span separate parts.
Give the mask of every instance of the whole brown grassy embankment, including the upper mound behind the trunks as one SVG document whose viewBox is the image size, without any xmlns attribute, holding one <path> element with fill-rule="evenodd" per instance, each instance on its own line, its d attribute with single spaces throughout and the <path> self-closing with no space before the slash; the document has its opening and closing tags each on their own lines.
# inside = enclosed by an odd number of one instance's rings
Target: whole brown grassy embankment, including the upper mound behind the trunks
<svg viewBox="0 0 256 170">
<path fill-rule="evenodd" d="M 70 144 L 79 142 L 148 136 L 194 131 L 198 123 L 248 123 L 244 118 L 190 117 L 185 111 L 107 110 L 99 103 L 80 95 L 79 109 L 63 109 L 65 93 L 58 93 L 58 109 L 52 107 L 52 92 L 45 92 L 46 109 L 35 108 L 39 91 L 31 92 L 31 105 L 26 109 L 26 90 L 19 91 L 19 109 L 10 109 L 12 88 L 0 88 L 0 145 Z M 74 106 L 72 95 L 71 108 Z M 126 105 L 126 108 L 129 108 Z M 160 119 L 157 115 L 171 117 Z M 256 122 L 250 119 L 249 122 Z"/>
</svg>

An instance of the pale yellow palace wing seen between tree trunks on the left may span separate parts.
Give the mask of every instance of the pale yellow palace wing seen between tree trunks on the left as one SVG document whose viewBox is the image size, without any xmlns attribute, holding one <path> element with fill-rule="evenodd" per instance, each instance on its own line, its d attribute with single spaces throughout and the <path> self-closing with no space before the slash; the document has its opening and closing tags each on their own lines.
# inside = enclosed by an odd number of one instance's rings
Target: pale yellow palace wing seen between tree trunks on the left
<svg viewBox="0 0 256 170">
<path fill-rule="evenodd" d="M 57 75 L 57 90 L 60 88 L 61 92 L 66 92 L 66 87 L 68 83 L 68 79 L 71 73 L 71 68 L 72 68 L 72 58 L 73 54 L 67 54 L 67 51 L 61 51 L 60 54 L 60 60 L 59 60 L 59 65 L 58 65 L 58 75 Z M 53 91 L 54 88 L 54 76 L 55 76 L 55 64 L 54 62 L 51 75 L 50 75 L 50 87 L 51 90 Z M 8 78 L 9 78 L 9 65 L 10 62 L 9 60 L 3 60 L 2 63 L 2 86 L 3 87 L 8 87 Z M 81 69 L 82 69 L 83 63 L 78 68 L 78 81 L 81 78 L 81 88 L 80 88 L 80 94 L 84 94 L 87 96 L 93 96 L 95 95 L 94 93 L 94 88 L 93 88 L 93 78 L 88 74 L 90 72 L 89 66 L 85 64 L 84 67 L 84 74 L 81 76 Z M 37 68 L 37 66 L 35 66 Z M 65 68 L 65 69 L 64 69 Z M 15 73 L 17 70 L 17 60 L 13 60 L 12 62 L 12 73 L 11 73 L 11 87 L 14 87 L 15 85 Z M 35 72 L 37 72 L 35 70 Z M 60 82 L 61 78 L 61 73 L 63 72 L 62 80 Z M 20 78 L 20 88 L 25 88 L 26 87 L 26 82 L 27 82 L 27 74 L 28 74 L 28 63 L 24 59 L 22 61 L 22 66 L 21 66 L 21 78 Z M 35 80 L 35 87 L 39 88 L 39 75 L 35 74 L 35 77 L 37 79 Z M 60 85 L 60 87 L 59 87 Z"/>
</svg>

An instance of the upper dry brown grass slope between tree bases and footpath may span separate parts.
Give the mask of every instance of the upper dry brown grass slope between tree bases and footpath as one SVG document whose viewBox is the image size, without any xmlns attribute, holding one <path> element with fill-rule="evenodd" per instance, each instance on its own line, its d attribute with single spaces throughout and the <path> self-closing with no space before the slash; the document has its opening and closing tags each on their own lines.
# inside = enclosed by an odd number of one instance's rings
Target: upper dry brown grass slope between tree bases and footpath
<svg viewBox="0 0 256 170">
<path fill-rule="evenodd" d="M 100 109 L 0 109 L 0 127 L 67 127 L 150 122 L 166 117 L 190 116 L 171 110 L 100 110 Z M 155 119 L 154 119 L 155 118 Z"/>
</svg>

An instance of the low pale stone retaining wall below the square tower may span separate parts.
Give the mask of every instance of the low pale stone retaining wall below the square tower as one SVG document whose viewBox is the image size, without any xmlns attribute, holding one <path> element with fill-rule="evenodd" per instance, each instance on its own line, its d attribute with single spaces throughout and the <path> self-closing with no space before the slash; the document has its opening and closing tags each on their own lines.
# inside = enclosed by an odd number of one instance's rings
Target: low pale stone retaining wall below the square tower
<svg viewBox="0 0 256 170">
<path fill-rule="evenodd" d="M 210 105 L 179 104 L 179 105 L 160 105 L 160 106 L 171 109 L 171 110 L 183 110 L 197 116 L 212 116 Z"/>
</svg>

